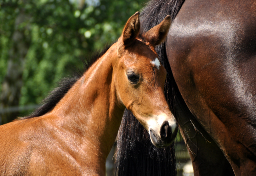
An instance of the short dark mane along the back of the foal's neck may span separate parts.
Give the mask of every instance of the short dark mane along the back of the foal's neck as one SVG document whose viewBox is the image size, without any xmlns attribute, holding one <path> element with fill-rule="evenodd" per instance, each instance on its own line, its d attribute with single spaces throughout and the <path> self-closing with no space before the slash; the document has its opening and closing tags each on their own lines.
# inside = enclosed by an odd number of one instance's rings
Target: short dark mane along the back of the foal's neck
<svg viewBox="0 0 256 176">
<path fill-rule="evenodd" d="M 84 72 L 94 64 L 103 54 L 107 52 L 107 50 L 112 46 L 112 44 L 108 44 L 105 46 L 105 48 L 101 52 L 96 52 L 91 59 L 86 62 L 82 61 L 84 65 L 83 71 L 76 71 L 73 76 L 63 78 L 58 84 L 59 86 L 52 90 L 49 95 L 42 101 L 42 105 L 39 106 L 32 114 L 20 118 L 27 119 L 27 118 L 33 118 L 38 117 L 46 114 L 47 112 L 50 112 L 56 104 L 64 97 L 64 95 L 70 90 L 70 88 L 83 76 Z"/>
</svg>

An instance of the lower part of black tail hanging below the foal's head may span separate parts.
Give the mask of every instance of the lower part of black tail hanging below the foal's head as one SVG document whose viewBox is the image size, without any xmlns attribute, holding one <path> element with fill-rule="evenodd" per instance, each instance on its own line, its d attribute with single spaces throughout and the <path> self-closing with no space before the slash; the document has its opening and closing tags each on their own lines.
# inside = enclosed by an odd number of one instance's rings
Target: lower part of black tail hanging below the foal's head
<svg viewBox="0 0 256 176">
<path fill-rule="evenodd" d="M 127 109 L 118 132 L 117 148 L 116 176 L 176 175 L 174 144 L 156 148 L 148 132 Z"/>
</svg>

